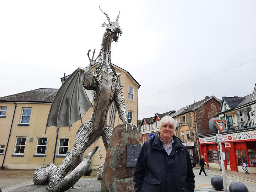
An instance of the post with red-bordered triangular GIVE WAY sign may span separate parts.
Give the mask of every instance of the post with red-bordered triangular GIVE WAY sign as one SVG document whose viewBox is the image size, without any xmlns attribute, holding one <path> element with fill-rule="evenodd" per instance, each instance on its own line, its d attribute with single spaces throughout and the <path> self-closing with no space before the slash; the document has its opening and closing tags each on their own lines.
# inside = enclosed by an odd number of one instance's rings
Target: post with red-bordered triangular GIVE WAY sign
<svg viewBox="0 0 256 192">
<path fill-rule="evenodd" d="M 224 192 L 228 192 L 228 188 L 226 185 L 226 175 L 225 175 L 225 166 L 223 161 L 223 153 L 222 153 L 222 141 L 223 141 L 223 135 L 220 134 L 226 124 L 226 120 L 220 120 L 220 119 L 213 119 L 213 122 L 215 123 L 216 127 L 218 128 L 218 134 L 216 134 L 217 142 L 219 142 L 219 149 L 220 149 L 220 159 L 221 159 L 221 167 L 222 167 L 222 180 L 223 180 L 223 190 Z"/>
</svg>

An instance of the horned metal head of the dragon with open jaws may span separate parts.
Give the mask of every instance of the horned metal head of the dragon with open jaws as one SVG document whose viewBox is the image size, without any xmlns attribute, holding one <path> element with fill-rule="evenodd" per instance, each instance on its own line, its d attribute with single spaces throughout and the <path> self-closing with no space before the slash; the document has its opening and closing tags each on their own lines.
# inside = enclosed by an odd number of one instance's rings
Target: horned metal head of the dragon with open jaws
<svg viewBox="0 0 256 192">
<path fill-rule="evenodd" d="M 100 7 L 100 5 L 99 5 L 99 7 Z M 101 10 L 101 8 L 100 8 L 100 10 Z M 118 18 L 119 18 L 119 15 L 120 15 L 120 11 L 119 11 L 119 14 L 117 16 L 116 22 L 110 21 L 110 18 L 108 17 L 108 15 L 104 11 L 102 11 L 102 12 L 103 12 L 103 14 L 106 15 L 107 20 L 108 20 L 108 24 L 103 22 L 102 27 L 106 27 L 107 34 L 112 37 L 113 41 L 117 42 L 117 40 L 119 38 L 119 34 L 121 36 L 122 33 L 123 33 L 120 26 L 119 26 L 119 23 L 118 23 Z"/>
</svg>

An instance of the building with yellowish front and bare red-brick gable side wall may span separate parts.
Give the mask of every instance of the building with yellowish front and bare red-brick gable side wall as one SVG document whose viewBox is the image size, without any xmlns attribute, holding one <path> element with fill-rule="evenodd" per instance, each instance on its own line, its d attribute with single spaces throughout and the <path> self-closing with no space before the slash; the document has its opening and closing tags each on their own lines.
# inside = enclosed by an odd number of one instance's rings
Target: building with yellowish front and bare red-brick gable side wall
<svg viewBox="0 0 256 192">
<path fill-rule="evenodd" d="M 208 123 L 209 120 L 218 113 L 220 103 L 221 101 L 215 96 L 206 96 L 203 100 L 183 107 L 171 115 L 171 117 L 175 119 L 177 125 L 176 136 L 181 139 L 190 155 L 194 156 L 197 162 L 199 161 L 199 146 L 197 144 L 196 136 L 213 133 L 210 131 Z"/>
</svg>

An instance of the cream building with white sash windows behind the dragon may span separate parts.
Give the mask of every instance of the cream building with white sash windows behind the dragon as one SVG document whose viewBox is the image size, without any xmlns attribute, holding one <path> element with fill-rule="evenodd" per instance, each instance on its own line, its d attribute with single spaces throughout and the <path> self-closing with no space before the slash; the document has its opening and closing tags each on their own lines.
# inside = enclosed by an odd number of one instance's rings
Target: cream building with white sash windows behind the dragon
<svg viewBox="0 0 256 192">
<path fill-rule="evenodd" d="M 128 121 L 137 124 L 140 85 L 128 71 L 116 65 L 113 66 L 117 73 L 121 73 L 120 82 L 123 85 Z M 81 126 L 80 121 L 75 122 L 70 131 L 68 127 L 61 127 L 58 135 L 56 127 L 48 127 L 46 131 L 48 112 L 57 91 L 58 89 L 36 89 L 0 97 L 1 167 L 35 169 L 43 165 L 44 154 L 46 155 L 45 164 L 54 162 L 59 166 L 65 158 L 66 151 L 73 148 L 75 134 Z M 83 122 L 89 119 L 91 112 L 92 108 L 82 118 Z M 122 123 L 116 114 L 114 126 Z M 49 141 L 47 145 L 46 140 Z M 101 138 L 85 151 L 84 156 L 96 145 L 100 145 L 101 153 L 105 157 L 106 150 Z M 92 157 L 92 169 L 104 161 L 105 158 L 100 159 L 96 153 Z"/>
</svg>

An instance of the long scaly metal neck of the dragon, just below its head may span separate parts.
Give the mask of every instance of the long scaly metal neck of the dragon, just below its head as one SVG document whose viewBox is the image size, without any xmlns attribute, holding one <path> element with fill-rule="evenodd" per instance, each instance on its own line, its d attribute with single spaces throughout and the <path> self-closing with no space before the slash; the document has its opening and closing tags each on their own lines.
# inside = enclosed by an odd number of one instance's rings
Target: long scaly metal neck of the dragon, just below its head
<svg viewBox="0 0 256 192">
<path fill-rule="evenodd" d="M 105 31 L 101 43 L 101 55 L 98 60 L 99 64 L 111 65 L 111 40 L 112 37 Z"/>
</svg>

